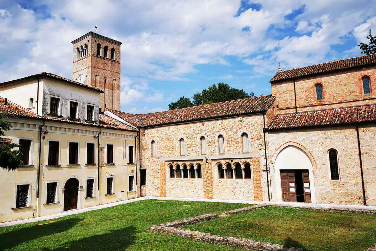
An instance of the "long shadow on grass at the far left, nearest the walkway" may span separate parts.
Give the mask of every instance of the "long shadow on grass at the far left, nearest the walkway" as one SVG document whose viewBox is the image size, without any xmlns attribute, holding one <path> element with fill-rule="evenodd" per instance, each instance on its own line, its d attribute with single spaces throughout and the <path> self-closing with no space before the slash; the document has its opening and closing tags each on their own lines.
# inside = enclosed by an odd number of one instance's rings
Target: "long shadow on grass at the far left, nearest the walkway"
<svg viewBox="0 0 376 251">
<path fill-rule="evenodd" d="M 80 218 L 66 219 L 52 223 L 38 224 L 32 227 L 24 227 L 8 233 L 0 234 L 0 251 L 12 248 L 23 242 L 37 239 L 39 237 L 67 231 L 82 220 L 83 219 Z"/>
</svg>

